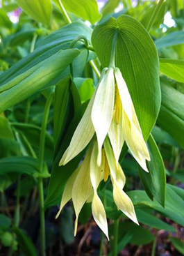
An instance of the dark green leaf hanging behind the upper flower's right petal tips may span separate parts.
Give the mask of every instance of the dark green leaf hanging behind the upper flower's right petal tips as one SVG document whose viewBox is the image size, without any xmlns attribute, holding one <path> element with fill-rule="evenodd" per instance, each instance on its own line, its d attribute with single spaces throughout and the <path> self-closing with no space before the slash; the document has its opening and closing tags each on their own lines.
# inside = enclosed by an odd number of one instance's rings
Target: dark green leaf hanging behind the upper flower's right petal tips
<svg viewBox="0 0 184 256">
<path fill-rule="evenodd" d="M 151 199 L 156 198 L 162 206 L 165 206 L 165 166 L 152 136 L 149 137 L 147 144 L 151 158 L 151 161 L 147 162 L 149 173 L 144 172 L 139 166 L 140 179 L 149 197 Z"/>
</svg>

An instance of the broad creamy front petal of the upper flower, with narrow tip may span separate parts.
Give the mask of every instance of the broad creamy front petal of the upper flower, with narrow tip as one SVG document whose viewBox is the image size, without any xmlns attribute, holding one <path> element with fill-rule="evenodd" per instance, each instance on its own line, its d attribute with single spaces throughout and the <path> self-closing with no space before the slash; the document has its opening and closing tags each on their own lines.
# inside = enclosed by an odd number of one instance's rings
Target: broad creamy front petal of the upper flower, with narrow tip
<svg viewBox="0 0 184 256">
<path fill-rule="evenodd" d="M 109 68 L 97 89 L 92 106 L 92 123 L 97 133 L 99 145 L 99 165 L 101 164 L 101 147 L 110 128 L 115 103 L 115 78 L 113 69 Z"/>
</svg>

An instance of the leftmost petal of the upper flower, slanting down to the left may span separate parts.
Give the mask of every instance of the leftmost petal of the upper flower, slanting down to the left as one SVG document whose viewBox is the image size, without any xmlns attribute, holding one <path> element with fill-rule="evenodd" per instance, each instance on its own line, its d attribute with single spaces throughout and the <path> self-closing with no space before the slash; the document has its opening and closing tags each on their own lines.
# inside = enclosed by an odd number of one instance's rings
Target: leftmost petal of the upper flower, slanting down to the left
<svg viewBox="0 0 184 256">
<path fill-rule="evenodd" d="M 62 156 L 59 165 L 66 165 L 70 160 L 77 156 L 78 153 L 85 149 L 85 146 L 87 146 L 90 140 L 92 140 L 94 135 L 94 126 L 92 124 L 91 112 L 94 97 L 95 93 L 92 96 L 90 103 L 87 105 L 87 109 L 85 110 L 80 123 L 78 123 L 69 147 Z"/>
</svg>

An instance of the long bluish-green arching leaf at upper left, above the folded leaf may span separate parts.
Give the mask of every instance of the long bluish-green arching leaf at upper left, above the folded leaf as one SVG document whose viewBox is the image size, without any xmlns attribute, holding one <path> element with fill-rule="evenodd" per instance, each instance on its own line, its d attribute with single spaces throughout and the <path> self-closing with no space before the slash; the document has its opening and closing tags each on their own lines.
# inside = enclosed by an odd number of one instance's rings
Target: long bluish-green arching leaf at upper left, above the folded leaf
<svg viewBox="0 0 184 256">
<path fill-rule="evenodd" d="M 85 36 L 90 40 L 91 33 L 92 29 L 87 27 L 85 23 L 81 21 L 73 22 L 72 24 L 54 31 L 49 34 L 49 36 L 40 40 L 34 52 L 28 54 L 27 57 L 15 63 L 9 70 L 0 75 L 0 86 L 26 72 L 26 70 L 37 65 L 41 61 L 44 61 L 44 59 L 56 54 L 59 50 L 66 50 L 72 40 L 78 36 Z"/>
</svg>

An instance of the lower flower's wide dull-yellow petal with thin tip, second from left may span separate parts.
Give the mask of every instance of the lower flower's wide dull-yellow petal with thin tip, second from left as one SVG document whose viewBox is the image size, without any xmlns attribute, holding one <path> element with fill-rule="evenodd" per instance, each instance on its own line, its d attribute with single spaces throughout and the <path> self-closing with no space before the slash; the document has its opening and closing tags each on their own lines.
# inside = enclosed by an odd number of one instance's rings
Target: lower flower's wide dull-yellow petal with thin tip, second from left
<svg viewBox="0 0 184 256">
<path fill-rule="evenodd" d="M 78 175 L 76 176 L 76 179 L 74 181 L 74 186 L 72 189 L 72 201 L 74 204 L 74 210 L 76 213 L 76 221 L 75 221 L 75 232 L 77 229 L 77 222 L 78 222 L 78 215 L 87 201 L 87 199 L 90 197 L 90 195 L 93 193 L 92 190 L 92 183 L 90 180 L 90 156 L 92 153 L 92 147 L 87 151 L 87 154 L 85 156 L 85 159 L 83 160 L 83 163 L 80 166 Z"/>
</svg>

